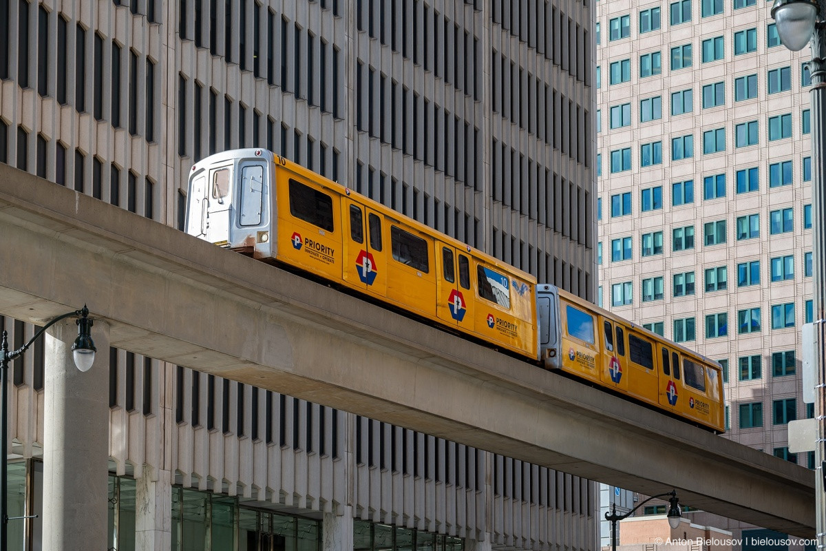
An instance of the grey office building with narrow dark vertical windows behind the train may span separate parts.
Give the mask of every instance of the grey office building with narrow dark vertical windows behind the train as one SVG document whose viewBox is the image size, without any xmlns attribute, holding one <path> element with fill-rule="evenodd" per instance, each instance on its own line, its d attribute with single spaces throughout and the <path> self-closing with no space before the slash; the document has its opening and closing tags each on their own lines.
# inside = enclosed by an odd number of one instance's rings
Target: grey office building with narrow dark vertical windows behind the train
<svg viewBox="0 0 826 551">
<path fill-rule="evenodd" d="M 266 147 L 593 300 L 592 10 L 0 0 L 0 161 L 181 228 L 197 159 Z M 15 345 L 35 330 L 4 326 Z M 27 514 L 43 354 L 12 377 Z M 112 548 L 594 549 L 593 482 L 125 350 L 109 363 Z M 17 544 L 40 549 L 43 521 Z"/>
</svg>

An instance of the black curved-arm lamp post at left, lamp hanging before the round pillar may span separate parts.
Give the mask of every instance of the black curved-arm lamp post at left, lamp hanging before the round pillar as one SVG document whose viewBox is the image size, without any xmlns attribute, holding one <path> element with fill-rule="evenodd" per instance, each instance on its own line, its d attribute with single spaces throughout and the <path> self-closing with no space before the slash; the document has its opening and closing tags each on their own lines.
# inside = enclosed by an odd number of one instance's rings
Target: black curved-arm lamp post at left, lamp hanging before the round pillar
<svg viewBox="0 0 826 551">
<path fill-rule="evenodd" d="M 95 344 L 92 341 L 92 325 L 93 320 L 89 317 L 89 310 L 86 306 L 82 309 L 71 311 L 62 316 L 57 316 L 54 320 L 44 325 L 40 330 L 31 337 L 31 340 L 23 344 L 17 350 L 8 349 L 8 333 L 2 332 L 2 346 L 0 346 L 0 415 L 2 415 L 2 423 L 0 423 L 0 551 L 7 551 L 8 549 L 8 365 L 13 360 L 20 358 L 26 353 L 31 344 L 33 344 L 40 335 L 45 333 L 52 325 L 58 321 L 64 320 L 68 317 L 77 317 L 78 324 L 78 338 L 74 340 L 72 345 L 72 353 L 74 355 L 74 365 L 82 372 L 86 372 L 92 367 L 95 361 Z M 12 517 L 13 519 L 22 519 L 26 517 Z"/>
</svg>

